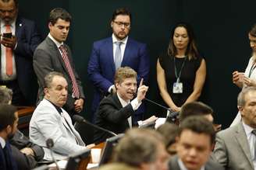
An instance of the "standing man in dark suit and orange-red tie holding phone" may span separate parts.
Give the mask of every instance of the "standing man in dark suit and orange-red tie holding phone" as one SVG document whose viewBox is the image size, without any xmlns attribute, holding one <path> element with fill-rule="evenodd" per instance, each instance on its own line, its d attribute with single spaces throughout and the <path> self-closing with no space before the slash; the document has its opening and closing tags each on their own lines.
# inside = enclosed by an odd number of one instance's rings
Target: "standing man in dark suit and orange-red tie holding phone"
<svg viewBox="0 0 256 170">
<path fill-rule="evenodd" d="M 33 21 L 18 16 L 18 0 L 0 0 L 0 11 L 0 85 L 12 89 L 13 105 L 35 105 L 38 87 L 32 62 L 41 36 Z"/>
</svg>

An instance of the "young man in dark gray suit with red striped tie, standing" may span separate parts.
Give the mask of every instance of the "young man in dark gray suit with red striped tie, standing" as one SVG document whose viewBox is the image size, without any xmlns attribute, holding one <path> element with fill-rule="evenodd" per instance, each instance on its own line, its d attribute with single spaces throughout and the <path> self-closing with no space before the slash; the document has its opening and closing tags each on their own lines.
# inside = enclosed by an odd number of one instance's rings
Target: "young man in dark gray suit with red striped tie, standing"
<svg viewBox="0 0 256 170">
<path fill-rule="evenodd" d="M 84 107 L 84 92 L 73 64 L 69 47 L 64 43 L 69 34 L 71 16 L 65 9 L 52 9 L 48 27 L 50 33 L 34 52 L 34 71 L 39 82 L 39 101 L 44 98 L 44 77 L 51 71 L 61 72 L 68 82 L 68 99 L 63 107 L 73 115 Z"/>
</svg>

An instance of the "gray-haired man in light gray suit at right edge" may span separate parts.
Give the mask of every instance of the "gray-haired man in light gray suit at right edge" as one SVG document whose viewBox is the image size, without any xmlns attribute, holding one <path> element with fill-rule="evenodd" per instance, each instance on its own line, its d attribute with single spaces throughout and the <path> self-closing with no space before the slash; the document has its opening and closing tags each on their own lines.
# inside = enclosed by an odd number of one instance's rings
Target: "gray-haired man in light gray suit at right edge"
<svg viewBox="0 0 256 170">
<path fill-rule="evenodd" d="M 237 98 L 242 122 L 217 134 L 215 158 L 227 170 L 256 169 L 256 88 L 244 88 Z"/>
</svg>

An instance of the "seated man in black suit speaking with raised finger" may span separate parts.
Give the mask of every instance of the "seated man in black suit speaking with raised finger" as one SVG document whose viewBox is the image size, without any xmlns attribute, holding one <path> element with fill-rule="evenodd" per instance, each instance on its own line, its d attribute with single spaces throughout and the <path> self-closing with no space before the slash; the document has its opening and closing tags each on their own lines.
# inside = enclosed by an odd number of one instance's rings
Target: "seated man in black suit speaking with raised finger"
<svg viewBox="0 0 256 170">
<path fill-rule="evenodd" d="M 131 128 L 133 115 L 148 91 L 148 86 L 142 85 L 142 82 L 143 80 L 140 81 L 137 90 L 136 71 L 129 67 L 118 68 L 115 75 L 116 92 L 102 99 L 96 113 L 95 123 L 116 134 L 122 134 L 126 129 Z M 137 96 L 133 99 L 136 92 Z M 145 124 L 156 119 L 155 116 L 151 116 L 148 120 L 139 121 L 138 124 Z M 94 142 L 105 141 L 108 137 L 111 136 L 101 130 L 96 130 Z"/>
</svg>

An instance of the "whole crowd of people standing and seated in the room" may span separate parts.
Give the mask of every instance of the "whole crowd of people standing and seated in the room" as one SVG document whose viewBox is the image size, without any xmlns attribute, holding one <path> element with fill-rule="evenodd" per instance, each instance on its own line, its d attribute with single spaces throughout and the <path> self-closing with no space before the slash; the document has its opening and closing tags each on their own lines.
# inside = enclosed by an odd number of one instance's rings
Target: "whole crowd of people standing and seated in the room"
<svg viewBox="0 0 256 170">
<path fill-rule="evenodd" d="M 34 21 L 19 15 L 18 0 L 0 0 L 0 169 L 37 167 L 39 161 L 69 158 L 94 144 L 85 144 L 73 125 L 84 109 L 84 90 L 65 43 L 72 16 L 55 8 L 48 17 L 48 36 L 41 39 Z M 248 33 L 252 49 L 244 72 L 233 71 L 242 88 L 239 112 L 226 130 L 214 126 L 213 109 L 198 102 L 206 78 L 206 62 L 188 23 L 173 27 L 169 46 L 156 63 L 160 95 L 177 123 L 156 130 L 142 128 L 158 120 L 143 120 L 150 57 L 147 45 L 129 36 L 132 15 L 116 9 L 112 35 L 93 43 L 87 66 L 94 85 L 94 143 L 124 134 L 112 162 L 100 169 L 254 170 L 256 169 L 256 25 Z M 36 106 L 29 137 L 17 129 L 16 106 Z M 168 114 L 171 114 L 168 113 Z M 108 132 L 107 132 L 108 130 Z M 111 133 L 109 133 L 109 131 Z M 52 151 L 45 141 L 52 139 Z M 53 152 L 53 154 L 52 154 Z"/>
</svg>

